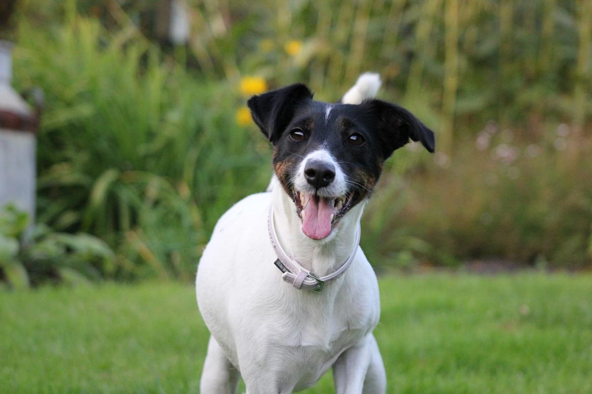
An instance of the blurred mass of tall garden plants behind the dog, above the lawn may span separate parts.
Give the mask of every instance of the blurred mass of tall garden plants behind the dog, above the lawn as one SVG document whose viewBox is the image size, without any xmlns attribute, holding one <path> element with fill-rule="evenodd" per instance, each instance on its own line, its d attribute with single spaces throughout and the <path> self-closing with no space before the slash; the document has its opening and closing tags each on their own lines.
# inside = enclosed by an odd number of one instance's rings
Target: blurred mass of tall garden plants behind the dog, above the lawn
<svg viewBox="0 0 592 394">
<path fill-rule="evenodd" d="M 191 279 L 218 217 L 264 190 L 249 89 L 334 101 L 366 70 L 439 150 L 387 163 L 363 223 L 374 263 L 590 265 L 592 2 L 186 3 L 176 47 L 153 2 L 20 4 L 15 85 L 47 95 L 38 217 L 104 239 L 118 278 Z"/>
</svg>

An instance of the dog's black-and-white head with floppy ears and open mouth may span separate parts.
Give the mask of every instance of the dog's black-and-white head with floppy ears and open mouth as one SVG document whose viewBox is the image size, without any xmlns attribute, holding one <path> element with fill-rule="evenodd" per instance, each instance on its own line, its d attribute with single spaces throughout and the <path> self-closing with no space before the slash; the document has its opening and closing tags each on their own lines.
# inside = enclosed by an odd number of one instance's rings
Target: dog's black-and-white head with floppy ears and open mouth
<svg viewBox="0 0 592 394">
<path fill-rule="evenodd" d="M 304 84 L 249 99 L 253 120 L 274 146 L 274 168 L 303 232 L 330 235 L 352 207 L 369 197 L 395 149 L 434 133 L 408 110 L 377 99 L 359 105 L 313 100 Z"/>
</svg>

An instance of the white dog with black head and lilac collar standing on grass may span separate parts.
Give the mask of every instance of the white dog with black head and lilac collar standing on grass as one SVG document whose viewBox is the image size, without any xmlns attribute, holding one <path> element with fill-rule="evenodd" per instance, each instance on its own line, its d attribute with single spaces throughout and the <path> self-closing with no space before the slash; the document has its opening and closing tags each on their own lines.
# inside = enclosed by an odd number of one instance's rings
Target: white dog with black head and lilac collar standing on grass
<svg viewBox="0 0 592 394">
<path fill-rule="evenodd" d="M 374 99 L 366 73 L 340 103 L 304 84 L 253 96 L 251 115 L 273 146 L 266 193 L 226 211 L 198 265 L 198 307 L 211 336 L 202 394 L 291 393 L 330 367 L 337 393 L 384 393 L 372 330 L 377 277 L 359 248 L 362 211 L 395 149 L 434 133 L 408 110 Z"/>
</svg>

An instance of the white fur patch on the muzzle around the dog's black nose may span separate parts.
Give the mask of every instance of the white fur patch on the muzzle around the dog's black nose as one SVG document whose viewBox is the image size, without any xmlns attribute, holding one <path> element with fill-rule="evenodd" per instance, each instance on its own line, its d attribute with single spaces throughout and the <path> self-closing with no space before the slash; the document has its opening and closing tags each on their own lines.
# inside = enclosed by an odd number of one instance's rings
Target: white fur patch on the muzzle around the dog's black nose
<svg viewBox="0 0 592 394">
<path fill-rule="evenodd" d="M 324 197 L 344 196 L 348 191 L 347 175 L 343 172 L 337 160 L 324 145 L 321 145 L 316 151 L 310 152 L 300 162 L 298 171 L 294 176 L 294 186 L 296 190 L 311 194 L 315 192 L 314 188 L 308 184 L 306 177 L 304 176 L 304 168 L 306 168 L 307 162 L 311 160 L 326 162 L 335 168 L 335 179 L 328 186 L 318 190 L 318 194 Z"/>
</svg>

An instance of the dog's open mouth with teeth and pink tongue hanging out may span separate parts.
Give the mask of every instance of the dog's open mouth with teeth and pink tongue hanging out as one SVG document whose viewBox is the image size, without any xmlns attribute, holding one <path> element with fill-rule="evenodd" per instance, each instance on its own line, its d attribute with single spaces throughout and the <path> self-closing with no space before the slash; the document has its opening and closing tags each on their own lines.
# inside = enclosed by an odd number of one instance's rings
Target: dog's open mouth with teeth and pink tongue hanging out
<svg viewBox="0 0 592 394">
<path fill-rule="evenodd" d="M 353 207 L 356 192 L 345 196 L 321 197 L 292 189 L 296 211 L 302 219 L 302 230 L 307 237 L 323 239 L 330 235 L 333 227 Z"/>
</svg>

